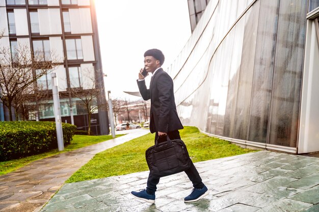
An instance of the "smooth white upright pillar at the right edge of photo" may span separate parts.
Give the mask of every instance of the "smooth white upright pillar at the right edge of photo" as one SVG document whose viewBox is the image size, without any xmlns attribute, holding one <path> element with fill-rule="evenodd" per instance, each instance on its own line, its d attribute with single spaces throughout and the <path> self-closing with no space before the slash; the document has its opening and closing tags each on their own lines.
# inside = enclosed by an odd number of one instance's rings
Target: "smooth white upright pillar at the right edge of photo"
<svg viewBox="0 0 319 212">
<path fill-rule="evenodd" d="M 316 39 L 316 21 L 307 21 L 300 108 L 299 154 L 319 151 L 319 41 Z"/>
</svg>

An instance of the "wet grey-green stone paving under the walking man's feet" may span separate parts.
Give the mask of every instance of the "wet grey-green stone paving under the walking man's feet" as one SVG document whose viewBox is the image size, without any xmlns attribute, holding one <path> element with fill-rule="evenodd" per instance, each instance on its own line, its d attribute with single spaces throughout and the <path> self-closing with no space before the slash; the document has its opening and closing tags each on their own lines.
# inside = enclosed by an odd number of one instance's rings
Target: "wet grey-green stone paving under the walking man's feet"
<svg viewBox="0 0 319 212">
<path fill-rule="evenodd" d="M 184 173 L 161 178 L 155 204 L 135 199 L 148 171 L 65 184 L 42 208 L 57 211 L 318 212 L 319 158 L 261 151 L 195 163 L 210 194 L 194 203 Z"/>
</svg>

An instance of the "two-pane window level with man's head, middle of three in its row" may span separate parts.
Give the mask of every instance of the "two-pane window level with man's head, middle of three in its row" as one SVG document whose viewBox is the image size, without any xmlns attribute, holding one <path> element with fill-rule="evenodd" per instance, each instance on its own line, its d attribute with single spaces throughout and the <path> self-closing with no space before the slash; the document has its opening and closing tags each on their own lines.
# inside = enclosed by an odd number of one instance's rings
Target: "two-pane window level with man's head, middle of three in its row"
<svg viewBox="0 0 319 212">
<path fill-rule="evenodd" d="M 51 60 L 49 40 L 32 41 L 35 59 L 42 61 Z"/>
</svg>

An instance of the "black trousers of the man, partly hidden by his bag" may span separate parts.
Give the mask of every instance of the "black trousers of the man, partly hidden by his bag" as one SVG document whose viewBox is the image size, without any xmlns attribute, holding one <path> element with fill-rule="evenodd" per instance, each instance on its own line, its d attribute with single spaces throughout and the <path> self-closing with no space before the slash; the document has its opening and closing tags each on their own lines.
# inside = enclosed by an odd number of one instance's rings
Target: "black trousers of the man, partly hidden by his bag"
<svg viewBox="0 0 319 212">
<path fill-rule="evenodd" d="M 180 139 L 180 135 L 179 135 L 178 130 L 168 132 L 167 134 L 168 134 L 168 137 L 172 140 L 173 139 Z M 157 132 L 156 132 L 155 141 L 157 138 L 158 138 L 158 142 L 166 141 L 166 136 L 159 137 Z M 194 188 L 201 189 L 204 187 L 204 184 L 202 183 L 202 179 L 200 178 L 199 173 L 198 173 L 198 171 L 197 171 L 196 167 L 194 166 L 191 159 L 190 159 L 190 161 L 191 161 L 191 167 L 189 169 L 185 170 L 185 173 L 187 174 L 189 179 L 192 181 Z M 156 185 L 158 183 L 159 183 L 159 178 L 156 178 L 156 177 L 152 176 L 151 173 L 149 173 L 148 179 L 147 179 L 147 187 L 146 187 L 147 193 L 154 194 L 156 189 L 157 189 Z"/>
</svg>

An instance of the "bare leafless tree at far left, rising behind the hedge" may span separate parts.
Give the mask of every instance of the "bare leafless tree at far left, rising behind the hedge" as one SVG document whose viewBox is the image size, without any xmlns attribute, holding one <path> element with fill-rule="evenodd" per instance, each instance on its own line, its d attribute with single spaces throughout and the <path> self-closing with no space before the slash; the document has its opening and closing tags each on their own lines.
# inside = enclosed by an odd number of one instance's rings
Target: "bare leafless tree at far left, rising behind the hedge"
<svg viewBox="0 0 319 212">
<path fill-rule="evenodd" d="M 52 57 L 52 53 L 33 53 L 27 46 L 0 49 L 0 99 L 9 110 L 10 120 L 13 120 L 12 108 L 17 110 L 21 106 L 18 102 L 26 90 L 32 90 L 34 83 L 57 65 L 51 61 Z"/>
</svg>

